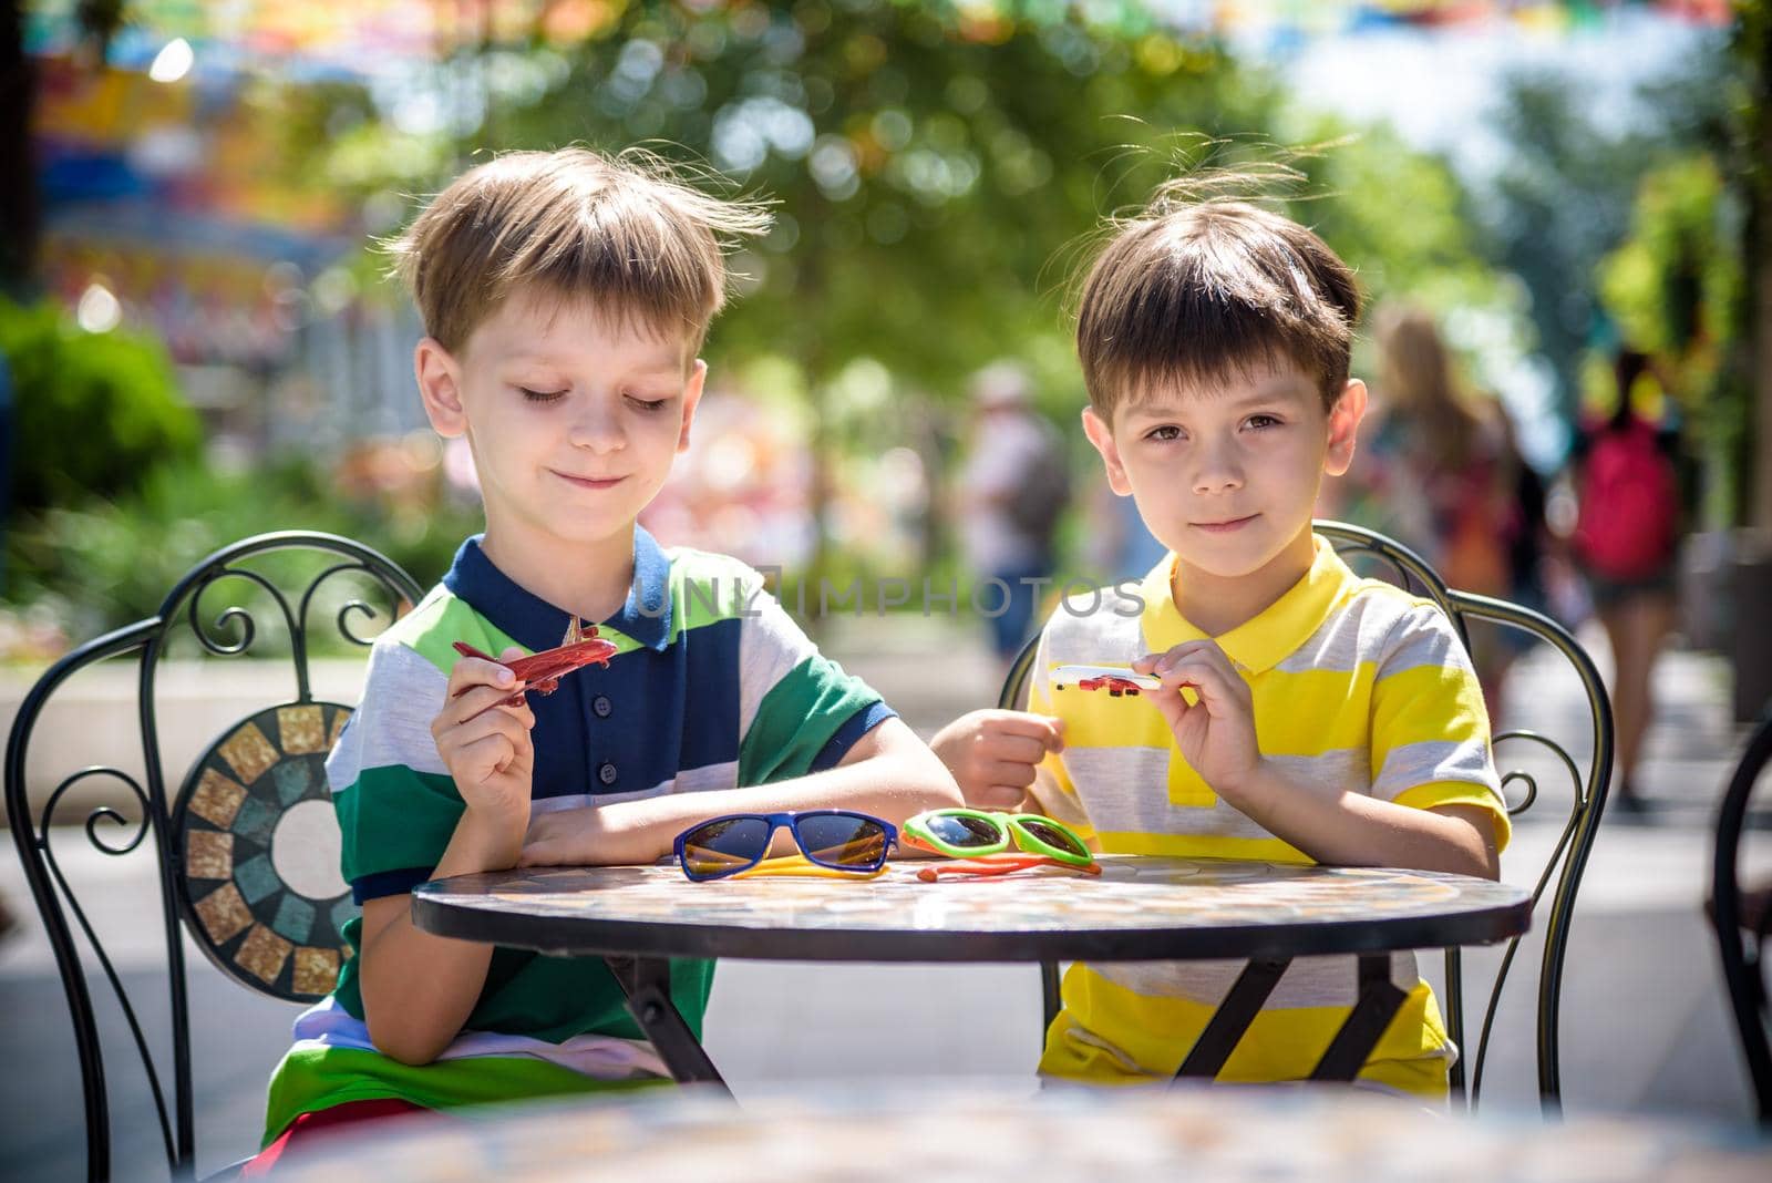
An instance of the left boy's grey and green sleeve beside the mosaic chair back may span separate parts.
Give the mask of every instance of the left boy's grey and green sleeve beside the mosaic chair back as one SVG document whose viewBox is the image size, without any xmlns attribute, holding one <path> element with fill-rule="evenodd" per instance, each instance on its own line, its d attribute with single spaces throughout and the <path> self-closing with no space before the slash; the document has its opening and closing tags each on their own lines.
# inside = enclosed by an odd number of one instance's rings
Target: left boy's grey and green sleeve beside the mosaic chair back
<svg viewBox="0 0 1772 1183">
<path fill-rule="evenodd" d="M 431 737 L 447 691 L 448 677 L 406 645 L 370 650 L 363 700 L 326 758 L 340 870 L 358 903 L 425 882 L 466 808 Z"/>
</svg>

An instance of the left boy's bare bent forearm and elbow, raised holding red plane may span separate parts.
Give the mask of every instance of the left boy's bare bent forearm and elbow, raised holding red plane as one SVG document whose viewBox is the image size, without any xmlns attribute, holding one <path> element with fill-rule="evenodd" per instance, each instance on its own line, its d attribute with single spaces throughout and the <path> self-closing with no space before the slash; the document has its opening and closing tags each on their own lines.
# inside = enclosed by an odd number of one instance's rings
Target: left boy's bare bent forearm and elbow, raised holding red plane
<svg viewBox="0 0 1772 1183">
<path fill-rule="evenodd" d="M 525 825 L 526 818 L 464 813 L 431 878 L 516 866 Z M 411 896 L 399 896 L 397 907 L 392 919 L 363 939 L 363 1015 L 370 1041 L 385 1055 L 427 1064 L 473 1013 L 486 986 L 493 946 L 420 930 L 413 924 Z"/>
</svg>

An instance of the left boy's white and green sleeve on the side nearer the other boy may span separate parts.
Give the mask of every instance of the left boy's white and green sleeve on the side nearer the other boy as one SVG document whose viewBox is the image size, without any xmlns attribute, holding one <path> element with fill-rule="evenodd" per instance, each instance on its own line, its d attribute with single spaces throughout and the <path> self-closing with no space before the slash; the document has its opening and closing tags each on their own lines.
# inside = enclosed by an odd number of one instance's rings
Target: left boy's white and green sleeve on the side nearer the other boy
<svg viewBox="0 0 1772 1183">
<path fill-rule="evenodd" d="M 739 785 L 835 769 L 856 740 L 895 717 L 843 673 L 755 576 L 739 638 Z"/>
</svg>

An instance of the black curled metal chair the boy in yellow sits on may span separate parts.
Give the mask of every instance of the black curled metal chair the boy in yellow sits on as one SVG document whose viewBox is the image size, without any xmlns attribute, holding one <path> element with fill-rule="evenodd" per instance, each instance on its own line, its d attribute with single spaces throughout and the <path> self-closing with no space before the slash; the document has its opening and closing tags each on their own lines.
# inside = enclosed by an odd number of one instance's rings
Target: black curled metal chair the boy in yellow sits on
<svg viewBox="0 0 1772 1183">
<path fill-rule="evenodd" d="M 1448 588 L 1439 574 L 1435 574 L 1419 554 L 1372 530 L 1331 521 L 1318 521 L 1315 530 L 1329 538 L 1336 551 L 1345 558 L 1357 560 L 1359 556 L 1368 556 L 1370 560 L 1375 560 L 1389 568 L 1389 572 L 1393 572 L 1403 586 L 1439 604 L 1446 615 L 1451 616 L 1465 648 L 1471 645 L 1471 622 L 1487 622 L 1506 629 L 1517 629 L 1543 641 L 1545 645 L 1550 645 L 1556 652 L 1566 657 L 1575 668 L 1582 689 L 1588 694 L 1588 707 L 1593 723 L 1593 756 L 1588 762 L 1586 776 L 1582 776 L 1577 762 L 1568 754 L 1568 751 L 1538 731 L 1513 730 L 1501 731 L 1494 737 L 1496 767 L 1501 772 L 1503 793 L 1510 797 L 1510 816 L 1520 816 L 1531 809 L 1533 804 L 1536 804 L 1538 776 L 1527 769 L 1506 769 L 1503 763 L 1503 744 L 1536 744 L 1552 753 L 1558 765 L 1566 769 L 1570 777 L 1572 792 L 1568 818 L 1563 823 L 1563 832 L 1552 847 L 1543 871 L 1533 884 L 1533 909 L 1536 916 L 1545 887 L 1550 885 L 1552 877 L 1556 878 L 1556 887 L 1550 894 L 1550 903 L 1545 909 L 1543 921 L 1542 924 L 1535 923 L 1535 926 L 1542 926 L 1545 935 L 1543 958 L 1540 962 L 1538 974 L 1538 1096 L 1543 1110 L 1547 1114 L 1554 1114 L 1561 1107 L 1563 1093 L 1561 1075 L 1558 1070 L 1558 1011 L 1563 994 L 1563 958 L 1568 949 L 1568 926 L 1575 912 L 1575 893 L 1581 887 L 1581 875 L 1588 866 L 1588 854 L 1593 850 L 1593 838 L 1600 827 L 1600 811 L 1605 808 L 1605 790 L 1613 772 L 1613 708 L 1605 694 L 1605 684 L 1600 680 L 1600 673 L 1595 669 L 1593 659 L 1588 657 L 1588 652 L 1581 646 L 1581 643 L 1575 641 L 1575 638 L 1570 636 L 1563 625 L 1556 623 L 1549 616 L 1519 604 L 1510 604 L 1508 600 Z M 1037 646 L 1038 638 L 1030 641 L 1021 653 L 1015 655 L 1015 661 L 1010 664 L 1008 675 L 1003 680 L 1003 692 L 998 698 L 998 707 L 1014 710 L 1026 701 L 1026 684 L 1033 668 Z M 1522 797 L 1517 802 L 1512 799 L 1513 793 L 1510 792 L 1515 786 L 1524 786 Z M 1462 1055 L 1451 1068 L 1453 1093 L 1464 1094 L 1473 1109 L 1476 1107 L 1483 1087 L 1483 1063 L 1488 1055 L 1488 1036 L 1494 1027 L 1496 1008 L 1501 1002 L 1501 990 L 1506 985 L 1508 970 L 1513 967 L 1519 944 L 1519 937 L 1506 944 L 1494 985 L 1490 986 L 1488 1006 L 1483 1011 L 1483 1029 L 1478 1038 L 1476 1059 L 1469 1071 L 1469 1079 Z M 1056 963 L 1045 963 L 1040 967 L 1040 985 L 1045 997 L 1045 1027 L 1051 1027 L 1060 1008 L 1060 967 Z M 1460 949 L 1446 949 L 1446 992 L 1441 1004 L 1446 1011 L 1448 1032 L 1453 1041 L 1464 1048 L 1464 960 Z"/>
</svg>

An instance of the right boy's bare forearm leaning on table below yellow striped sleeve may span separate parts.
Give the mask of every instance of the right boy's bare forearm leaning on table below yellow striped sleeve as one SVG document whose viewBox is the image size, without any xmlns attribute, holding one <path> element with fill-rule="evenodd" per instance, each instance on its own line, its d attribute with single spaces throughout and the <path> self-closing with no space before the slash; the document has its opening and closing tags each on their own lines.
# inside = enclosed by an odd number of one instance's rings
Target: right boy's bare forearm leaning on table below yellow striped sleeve
<svg viewBox="0 0 1772 1183">
<path fill-rule="evenodd" d="M 1263 762 L 1226 800 L 1318 862 L 1496 877 L 1474 825 L 1361 793 L 1324 797 Z"/>
</svg>

